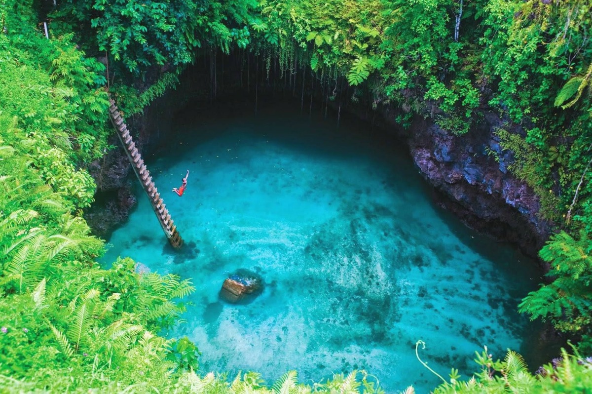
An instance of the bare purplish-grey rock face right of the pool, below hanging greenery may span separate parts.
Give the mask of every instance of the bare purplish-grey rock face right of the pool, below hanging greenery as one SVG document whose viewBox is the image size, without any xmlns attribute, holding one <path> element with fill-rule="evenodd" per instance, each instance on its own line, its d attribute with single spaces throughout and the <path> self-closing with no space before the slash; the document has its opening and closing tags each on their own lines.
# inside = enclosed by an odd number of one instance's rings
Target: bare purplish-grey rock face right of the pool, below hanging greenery
<svg viewBox="0 0 592 394">
<path fill-rule="evenodd" d="M 536 257 L 552 223 L 539 216 L 539 198 L 532 188 L 509 171 L 513 153 L 501 149 L 495 133 L 500 127 L 511 133 L 522 129 L 491 111 L 483 115 L 480 124 L 461 136 L 422 117 L 400 130 L 392 110 L 383 112 L 386 125 L 381 127 L 404 137 L 414 163 L 435 187 L 440 206 L 469 227 Z"/>
</svg>

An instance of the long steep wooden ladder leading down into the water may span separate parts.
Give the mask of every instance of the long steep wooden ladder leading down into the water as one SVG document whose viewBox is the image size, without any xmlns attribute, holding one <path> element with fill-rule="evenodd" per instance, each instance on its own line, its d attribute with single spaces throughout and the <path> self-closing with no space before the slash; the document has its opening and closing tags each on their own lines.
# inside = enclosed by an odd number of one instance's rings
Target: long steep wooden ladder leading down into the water
<svg viewBox="0 0 592 394">
<path fill-rule="evenodd" d="M 150 200 L 150 204 L 152 204 L 152 209 L 160 222 L 160 226 L 165 232 L 170 245 L 172 245 L 173 248 L 180 248 L 181 245 L 183 245 L 181 235 L 179 235 L 175 223 L 173 223 L 173 219 L 170 217 L 169 211 L 166 209 L 165 201 L 160 197 L 160 193 L 158 193 L 154 181 L 150 176 L 150 171 L 146 168 L 146 164 L 144 164 L 140 152 L 136 148 L 136 144 L 131 139 L 126 122 L 123 117 L 121 117 L 121 113 L 119 112 L 117 105 L 115 105 L 115 101 L 111 98 L 111 95 L 109 96 L 109 104 L 109 118 L 111 119 L 111 123 L 113 124 L 113 127 L 115 127 L 115 130 L 117 130 L 117 136 L 126 150 L 131 167 L 134 169 L 134 172 L 136 172 L 136 176 L 140 180 L 140 183 Z"/>
</svg>

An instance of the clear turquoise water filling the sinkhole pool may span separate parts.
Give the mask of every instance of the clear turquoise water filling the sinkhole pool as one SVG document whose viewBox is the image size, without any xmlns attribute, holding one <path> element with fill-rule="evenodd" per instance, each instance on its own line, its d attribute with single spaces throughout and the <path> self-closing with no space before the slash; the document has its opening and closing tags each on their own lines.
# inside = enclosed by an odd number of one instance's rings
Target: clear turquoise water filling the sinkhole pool
<svg viewBox="0 0 592 394">
<path fill-rule="evenodd" d="M 525 353 L 536 335 L 516 305 L 535 289 L 534 264 L 436 207 L 400 143 L 369 126 L 301 116 L 287 105 L 257 117 L 197 111 L 175 140 L 146 158 L 185 239 L 172 251 L 144 194 L 115 231 L 106 263 L 129 256 L 162 274 L 192 278 L 188 321 L 201 371 L 259 371 L 302 382 L 366 369 L 387 393 L 474 371 L 487 345 Z M 189 169 L 183 197 L 179 187 Z M 218 299 L 238 268 L 260 274 L 245 305 Z"/>
</svg>

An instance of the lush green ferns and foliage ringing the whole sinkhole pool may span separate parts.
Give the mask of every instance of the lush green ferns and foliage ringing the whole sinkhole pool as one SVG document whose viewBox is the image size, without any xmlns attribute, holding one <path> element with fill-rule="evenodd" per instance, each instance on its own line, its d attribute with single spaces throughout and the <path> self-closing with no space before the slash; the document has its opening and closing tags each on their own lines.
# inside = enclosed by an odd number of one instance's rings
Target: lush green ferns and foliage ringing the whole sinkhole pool
<svg viewBox="0 0 592 394">
<path fill-rule="evenodd" d="M 511 171 L 558 230 L 540 251 L 550 283 L 519 308 L 578 340 L 574 355 L 533 376 L 522 358 L 477 355 L 481 371 L 448 392 L 581 392 L 592 348 L 592 8 L 585 0 L 66 0 L 52 36 L 33 1 L 0 0 L 0 384 L 15 391 L 379 392 L 362 372 L 273 386 L 256 373 L 198 376 L 198 350 L 159 334 L 192 291 L 175 276 L 105 270 L 83 209 L 86 165 L 107 149 L 105 85 L 129 116 L 178 82 L 181 67 L 239 52 L 270 78 L 323 85 L 326 100 L 364 97 L 462 134 L 498 111 Z M 250 55 L 248 55 L 250 53 Z M 208 54 L 208 55 L 204 55 Z M 104 57 L 104 61 L 97 60 Z M 105 64 L 109 64 L 109 68 Z M 141 87 L 139 89 L 139 87 Z M 141 92 L 140 92 L 140 91 Z M 516 126 L 522 128 L 517 133 Z M 418 364 L 418 367 L 419 364 Z M 407 392 L 412 392 L 408 389 Z"/>
</svg>

